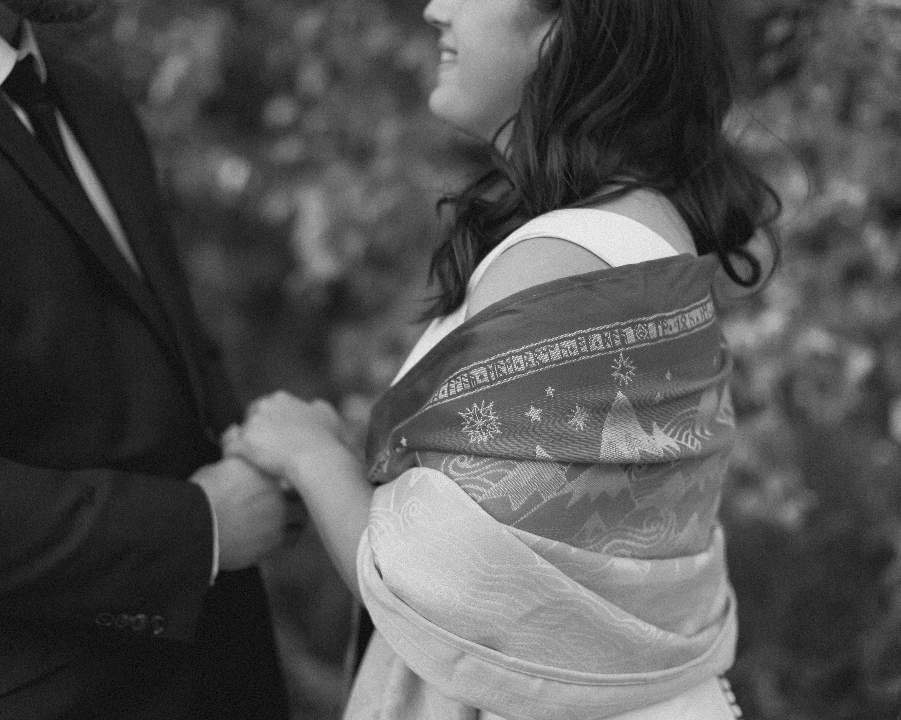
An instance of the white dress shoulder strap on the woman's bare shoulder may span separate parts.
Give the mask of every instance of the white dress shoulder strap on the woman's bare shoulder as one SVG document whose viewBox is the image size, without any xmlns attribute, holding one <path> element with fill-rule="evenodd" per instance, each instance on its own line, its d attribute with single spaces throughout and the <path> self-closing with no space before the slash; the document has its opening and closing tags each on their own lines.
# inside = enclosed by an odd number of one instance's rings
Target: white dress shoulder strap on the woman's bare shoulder
<svg viewBox="0 0 901 720">
<path fill-rule="evenodd" d="M 666 240 L 637 220 L 594 208 L 555 210 L 529 220 L 522 228 L 504 238 L 478 264 L 469 279 L 469 288 L 478 284 L 487 267 L 498 256 L 517 243 L 533 238 L 566 240 L 584 247 L 611 267 L 678 255 Z"/>
</svg>

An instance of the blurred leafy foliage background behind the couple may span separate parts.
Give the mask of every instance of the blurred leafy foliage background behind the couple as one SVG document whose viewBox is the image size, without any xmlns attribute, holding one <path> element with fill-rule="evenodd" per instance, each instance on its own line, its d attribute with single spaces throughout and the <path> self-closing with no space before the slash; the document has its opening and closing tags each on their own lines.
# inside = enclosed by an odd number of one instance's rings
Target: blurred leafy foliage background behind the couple
<svg viewBox="0 0 901 720">
<path fill-rule="evenodd" d="M 724 298 L 740 442 L 722 515 L 749 720 L 901 717 L 901 0 L 723 0 L 730 132 L 783 263 Z M 245 400 L 357 428 L 422 327 L 434 202 L 480 162 L 425 101 L 423 0 L 116 0 L 42 41 L 119 83 Z M 265 568 L 297 718 L 332 718 L 350 602 L 307 528 Z"/>
</svg>

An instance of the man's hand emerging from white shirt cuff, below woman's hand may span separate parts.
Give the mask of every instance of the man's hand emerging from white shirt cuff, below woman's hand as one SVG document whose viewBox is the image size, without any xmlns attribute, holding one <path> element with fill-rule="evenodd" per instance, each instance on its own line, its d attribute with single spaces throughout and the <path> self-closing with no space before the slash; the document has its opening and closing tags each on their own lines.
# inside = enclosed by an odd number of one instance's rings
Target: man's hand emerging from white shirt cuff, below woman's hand
<svg viewBox="0 0 901 720">
<path fill-rule="evenodd" d="M 220 570 L 243 570 L 281 544 L 286 503 L 277 482 L 236 457 L 200 468 L 191 482 L 215 510 Z"/>
</svg>

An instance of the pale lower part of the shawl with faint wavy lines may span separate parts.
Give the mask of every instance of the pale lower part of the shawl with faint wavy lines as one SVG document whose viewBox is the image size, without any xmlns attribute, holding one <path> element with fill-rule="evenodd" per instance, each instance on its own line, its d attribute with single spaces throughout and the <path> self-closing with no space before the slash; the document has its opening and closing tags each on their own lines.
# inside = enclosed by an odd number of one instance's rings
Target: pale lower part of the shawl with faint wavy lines
<svg viewBox="0 0 901 720">
<path fill-rule="evenodd" d="M 347 717 L 587 720 L 674 697 L 733 662 L 722 563 L 718 528 L 701 554 L 616 558 L 502 526 L 446 475 L 411 470 L 378 489 L 360 544 L 381 660 Z"/>
</svg>

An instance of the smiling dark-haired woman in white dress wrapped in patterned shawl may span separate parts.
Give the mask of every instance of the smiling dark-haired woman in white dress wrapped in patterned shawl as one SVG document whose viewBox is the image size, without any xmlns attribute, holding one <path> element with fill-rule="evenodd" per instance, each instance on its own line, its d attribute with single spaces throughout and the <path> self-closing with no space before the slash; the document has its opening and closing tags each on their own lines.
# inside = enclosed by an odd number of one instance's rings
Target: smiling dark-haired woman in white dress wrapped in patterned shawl
<svg viewBox="0 0 901 720">
<path fill-rule="evenodd" d="M 366 461 L 321 401 L 223 437 L 303 496 L 375 632 L 357 718 L 731 720 L 714 274 L 778 199 L 722 133 L 714 0 L 432 0 L 432 112 L 494 166 L 441 201 L 432 325 Z"/>
</svg>

